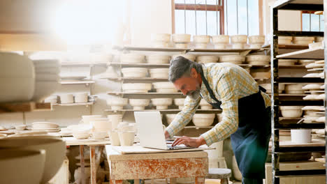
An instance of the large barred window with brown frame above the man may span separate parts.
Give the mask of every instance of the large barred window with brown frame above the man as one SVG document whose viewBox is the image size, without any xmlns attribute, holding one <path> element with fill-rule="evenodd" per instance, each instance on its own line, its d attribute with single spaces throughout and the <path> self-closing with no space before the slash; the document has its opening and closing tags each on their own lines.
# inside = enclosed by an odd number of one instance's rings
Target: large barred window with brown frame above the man
<svg viewBox="0 0 327 184">
<path fill-rule="evenodd" d="M 259 35 L 262 0 L 175 0 L 175 33 Z"/>
</svg>

